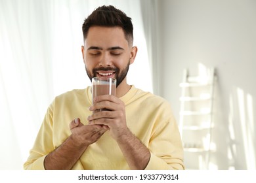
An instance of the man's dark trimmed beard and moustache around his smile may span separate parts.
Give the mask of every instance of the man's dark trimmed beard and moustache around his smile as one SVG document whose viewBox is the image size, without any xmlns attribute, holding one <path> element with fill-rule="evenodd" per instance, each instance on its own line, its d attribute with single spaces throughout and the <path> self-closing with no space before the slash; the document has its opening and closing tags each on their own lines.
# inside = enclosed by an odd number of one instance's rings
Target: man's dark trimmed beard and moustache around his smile
<svg viewBox="0 0 256 183">
<path fill-rule="evenodd" d="M 120 69 L 117 67 L 97 67 L 93 69 L 93 73 L 90 73 L 89 70 L 85 67 L 85 71 L 91 81 L 94 77 L 96 77 L 97 71 L 114 71 L 115 78 L 116 78 L 116 87 L 117 87 L 119 86 L 119 84 L 121 84 L 121 82 L 123 82 L 123 80 L 127 76 L 129 67 L 130 67 L 130 61 L 128 61 L 128 64 L 126 65 L 125 69 L 123 69 L 121 72 L 120 72 Z"/>
</svg>

